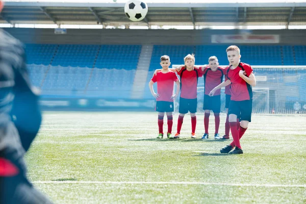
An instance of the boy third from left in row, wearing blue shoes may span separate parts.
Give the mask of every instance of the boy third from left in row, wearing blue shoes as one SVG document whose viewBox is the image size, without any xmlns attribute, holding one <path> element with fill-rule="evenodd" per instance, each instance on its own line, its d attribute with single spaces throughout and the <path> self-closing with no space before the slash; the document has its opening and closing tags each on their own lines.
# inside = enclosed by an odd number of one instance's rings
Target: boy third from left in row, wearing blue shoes
<svg viewBox="0 0 306 204">
<path fill-rule="evenodd" d="M 204 77 L 204 103 L 203 110 L 205 110 L 204 116 L 204 126 L 205 126 L 205 134 L 202 139 L 208 139 L 208 127 L 209 127 L 209 116 L 211 110 L 214 112 L 215 116 L 215 139 L 220 139 L 219 135 L 219 125 L 220 125 L 220 110 L 221 110 L 221 92 L 217 90 L 214 96 L 209 96 L 213 88 L 218 86 L 223 81 L 224 72 L 226 73 L 226 69 L 219 67 L 218 58 L 216 56 L 212 56 L 208 60 L 209 66 L 199 67 L 199 69 L 203 72 Z"/>
</svg>

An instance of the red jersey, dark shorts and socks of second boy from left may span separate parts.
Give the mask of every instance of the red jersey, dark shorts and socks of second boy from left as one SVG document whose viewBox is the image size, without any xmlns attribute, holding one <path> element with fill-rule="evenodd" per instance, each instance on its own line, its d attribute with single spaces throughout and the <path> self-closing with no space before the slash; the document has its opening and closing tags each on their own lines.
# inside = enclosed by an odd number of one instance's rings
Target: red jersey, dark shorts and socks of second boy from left
<svg viewBox="0 0 306 204">
<path fill-rule="evenodd" d="M 199 69 L 192 69 L 188 71 L 186 68 L 181 69 L 177 72 L 181 78 L 181 96 L 179 113 L 186 114 L 196 113 L 197 109 L 197 83 L 198 78 L 202 77 L 202 72 Z M 176 136 L 180 135 L 184 116 L 179 116 L 177 120 L 177 133 Z M 192 138 L 195 138 L 195 127 L 196 127 L 196 116 L 191 117 L 191 134 Z"/>
</svg>

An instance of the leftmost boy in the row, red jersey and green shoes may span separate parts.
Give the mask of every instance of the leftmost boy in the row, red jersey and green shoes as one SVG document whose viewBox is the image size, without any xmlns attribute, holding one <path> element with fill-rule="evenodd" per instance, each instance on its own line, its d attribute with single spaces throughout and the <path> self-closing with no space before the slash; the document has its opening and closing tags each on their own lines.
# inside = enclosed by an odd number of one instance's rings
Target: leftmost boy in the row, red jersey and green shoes
<svg viewBox="0 0 306 204">
<path fill-rule="evenodd" d="M 158 112 L 158 127 L 159 135 L 157 138 L 163 138 L 163 125 L 164 115 L 167 115 L 168 132 L 167 138 L 173 139 L 171 135 L 173 117 L 172 112 L 174 111 L 173 100 L 179 95 L 180 92 L 180 81 L 177 78 L 175 72 L 169 70 L 170 58 L 167 55 L 161 57 L 162 70 L 154 74 L 151 81 L 149 82 L 149 89 L 151 94 L 156 98 L 156 111 Z M 157 82 L 157 93 L 154 92 L 153 84 Z M 173 95 L 173 82 L 177 85 L 176 93 Z"/>
</svg>

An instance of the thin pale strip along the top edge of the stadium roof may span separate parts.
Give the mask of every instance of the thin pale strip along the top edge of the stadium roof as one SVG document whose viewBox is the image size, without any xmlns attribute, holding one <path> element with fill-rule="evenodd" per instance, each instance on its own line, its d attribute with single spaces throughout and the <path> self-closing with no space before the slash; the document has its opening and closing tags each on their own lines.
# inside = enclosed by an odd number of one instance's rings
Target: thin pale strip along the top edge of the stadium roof
<svg viewBox="0 0 306 204">
<path fill-rule="evenodd" d="M 6 6 L 18 7 L 124 7 L 124 3 L 63 3 L 63 2 L 6 2 Z M 261 8 L 261 7 L 306 7 L 304 3 L 148 3 L 152 8 Z"/>
</svg>

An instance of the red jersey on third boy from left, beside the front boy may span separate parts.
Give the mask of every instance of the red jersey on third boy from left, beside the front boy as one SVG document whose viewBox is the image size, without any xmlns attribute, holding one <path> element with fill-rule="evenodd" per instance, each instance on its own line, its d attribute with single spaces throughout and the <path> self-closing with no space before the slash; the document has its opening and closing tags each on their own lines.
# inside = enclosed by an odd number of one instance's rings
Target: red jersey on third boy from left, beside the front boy
<svg viewBox="0 0 306 204">
<path fill-rule="evenodd" d="M 202 67 L 199 67 L 202 70 Z M 211 90 L 213 90 L 216 86 L 222 83 L 223 75 L 226 73 L 225 69 L 221 69 L 220 67 L 217 68 L 216 71 L 212 71 L 212 69 L 207 66 L 203 71 L 204 76 L 204 88 L 205 94 L 208 95 Z M 214 95 L 220 95 L 221 91 L 218 89 Z"/>
</svg>

